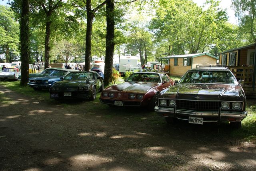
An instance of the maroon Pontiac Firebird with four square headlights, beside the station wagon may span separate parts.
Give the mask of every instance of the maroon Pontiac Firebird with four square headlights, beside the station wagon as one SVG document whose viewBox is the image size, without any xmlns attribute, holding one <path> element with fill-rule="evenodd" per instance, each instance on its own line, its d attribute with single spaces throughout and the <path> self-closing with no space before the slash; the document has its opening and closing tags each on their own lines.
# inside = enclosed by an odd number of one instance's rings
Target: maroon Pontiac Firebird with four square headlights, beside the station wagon
<svg viewBox="0 0 256 171">
<path fill-rule="evenodd" d="M 174 85 L 167 74 L 135 72 L 121 84 L 112 85 L 100 95 L 100 101 L 110 106 L 141 106 L 154 110 L 160 91 Z"/>
</svg>

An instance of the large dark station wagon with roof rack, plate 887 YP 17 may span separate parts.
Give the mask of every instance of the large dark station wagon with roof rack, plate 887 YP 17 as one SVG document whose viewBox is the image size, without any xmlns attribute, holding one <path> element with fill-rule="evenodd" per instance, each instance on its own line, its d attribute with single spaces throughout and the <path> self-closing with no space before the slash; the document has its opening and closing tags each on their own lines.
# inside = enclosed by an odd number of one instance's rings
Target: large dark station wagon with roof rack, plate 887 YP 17
<svg viewBox="0 0 256 171">
<path fill-rule="evenodd" d="M 194 124 L 230 121 L 239 128 L 247 115 L 242 82 L 226 67 L 192 69 L 178 84 L 159 93 L 155 111 L 168 123 L 176 119 Z"/>
</svg>

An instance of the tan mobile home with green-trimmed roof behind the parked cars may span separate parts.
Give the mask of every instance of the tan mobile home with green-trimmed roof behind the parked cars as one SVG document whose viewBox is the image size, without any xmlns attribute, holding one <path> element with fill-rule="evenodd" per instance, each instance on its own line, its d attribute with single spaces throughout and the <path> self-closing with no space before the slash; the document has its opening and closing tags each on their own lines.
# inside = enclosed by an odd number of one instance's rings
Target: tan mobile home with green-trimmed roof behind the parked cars
<svg viewBox="0 0 256 171">
<path fill-rule="evenodd" d="M 188 70 L 198 65 L 216 65 L 218 57 L 208 53 L 172 55 L 160 59 L 170 60 L 170 76 L 183 76 Z"/>
</svg>

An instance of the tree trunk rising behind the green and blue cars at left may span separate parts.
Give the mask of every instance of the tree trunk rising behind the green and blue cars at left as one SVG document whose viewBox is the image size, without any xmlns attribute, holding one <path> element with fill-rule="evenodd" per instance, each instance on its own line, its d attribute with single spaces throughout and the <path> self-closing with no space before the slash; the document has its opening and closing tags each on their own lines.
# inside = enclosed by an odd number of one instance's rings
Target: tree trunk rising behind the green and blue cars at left
<svg viewBox="0 0 256 171">
<path fill-rule="evenodd" d="M 50 21 L 51 13 L 46 15 L 46 29 L 45 29 L 45 42 L 44 42 L 44 69 L 49 68 L 49 57 L 50 57 L 50 34 L 51 24 Z"/>
</svg>

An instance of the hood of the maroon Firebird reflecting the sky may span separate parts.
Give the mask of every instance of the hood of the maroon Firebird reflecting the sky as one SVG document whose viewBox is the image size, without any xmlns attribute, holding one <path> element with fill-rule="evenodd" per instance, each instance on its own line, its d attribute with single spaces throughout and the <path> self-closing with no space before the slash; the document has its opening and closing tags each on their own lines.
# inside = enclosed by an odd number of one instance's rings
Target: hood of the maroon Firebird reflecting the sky
<svg viewBox="0 0 256 171">
<path fill-rule="evenodd" d="M 152 87 L 156 87 L 158 83 L 151 82 L 124 82 L 117 85 L 112 85 L 106 90 L 108 91 L 122 91 L 122 92 L 137 92 L 146 93 Z"/>
</svg>

